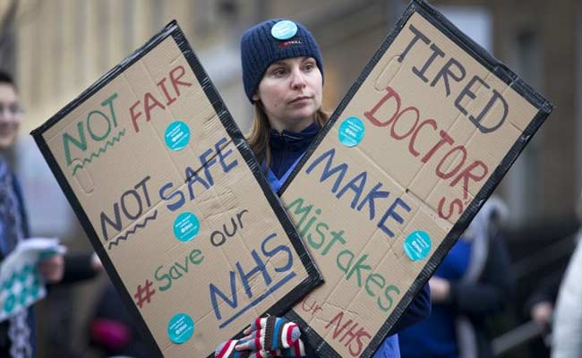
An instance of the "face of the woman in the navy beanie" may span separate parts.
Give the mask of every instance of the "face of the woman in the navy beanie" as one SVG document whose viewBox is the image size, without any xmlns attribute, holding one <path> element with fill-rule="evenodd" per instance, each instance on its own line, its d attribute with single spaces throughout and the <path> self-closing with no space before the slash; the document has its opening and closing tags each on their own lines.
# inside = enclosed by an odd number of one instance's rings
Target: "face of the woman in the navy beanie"
<svg viewBox="0 0 582 358">
<path fill-rule="evenodd" d="M 313 57 L 293 57 L 269 66 L 252 96 L 261 100 L 271 128 L 300 132 L 321 107 L 320 69 Z"/>
</svg>

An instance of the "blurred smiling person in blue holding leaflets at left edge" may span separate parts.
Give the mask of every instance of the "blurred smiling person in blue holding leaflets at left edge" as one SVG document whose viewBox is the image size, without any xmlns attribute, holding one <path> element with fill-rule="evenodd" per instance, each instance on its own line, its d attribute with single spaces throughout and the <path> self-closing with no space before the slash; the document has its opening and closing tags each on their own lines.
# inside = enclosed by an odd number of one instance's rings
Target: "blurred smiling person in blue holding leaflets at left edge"
<svg viewBox="0 0 582 358">
<path fill-rule="evenodd" d="M 0 71 L 0 269 L 4 258 L 16 245 L 30 237 L 21 186 L 7 160 L 18 135 L 22 113 L 13 78 Z M 54 254 L 43 257 L 38 270 L 45 283 L 56 284 L 94 277 L 101 265 L 97 256 L 91 254 Z M 34 337 L 34 317 L 30 307 L 0 323 L 0 357 L 36 356 Z"/>
</svg>

